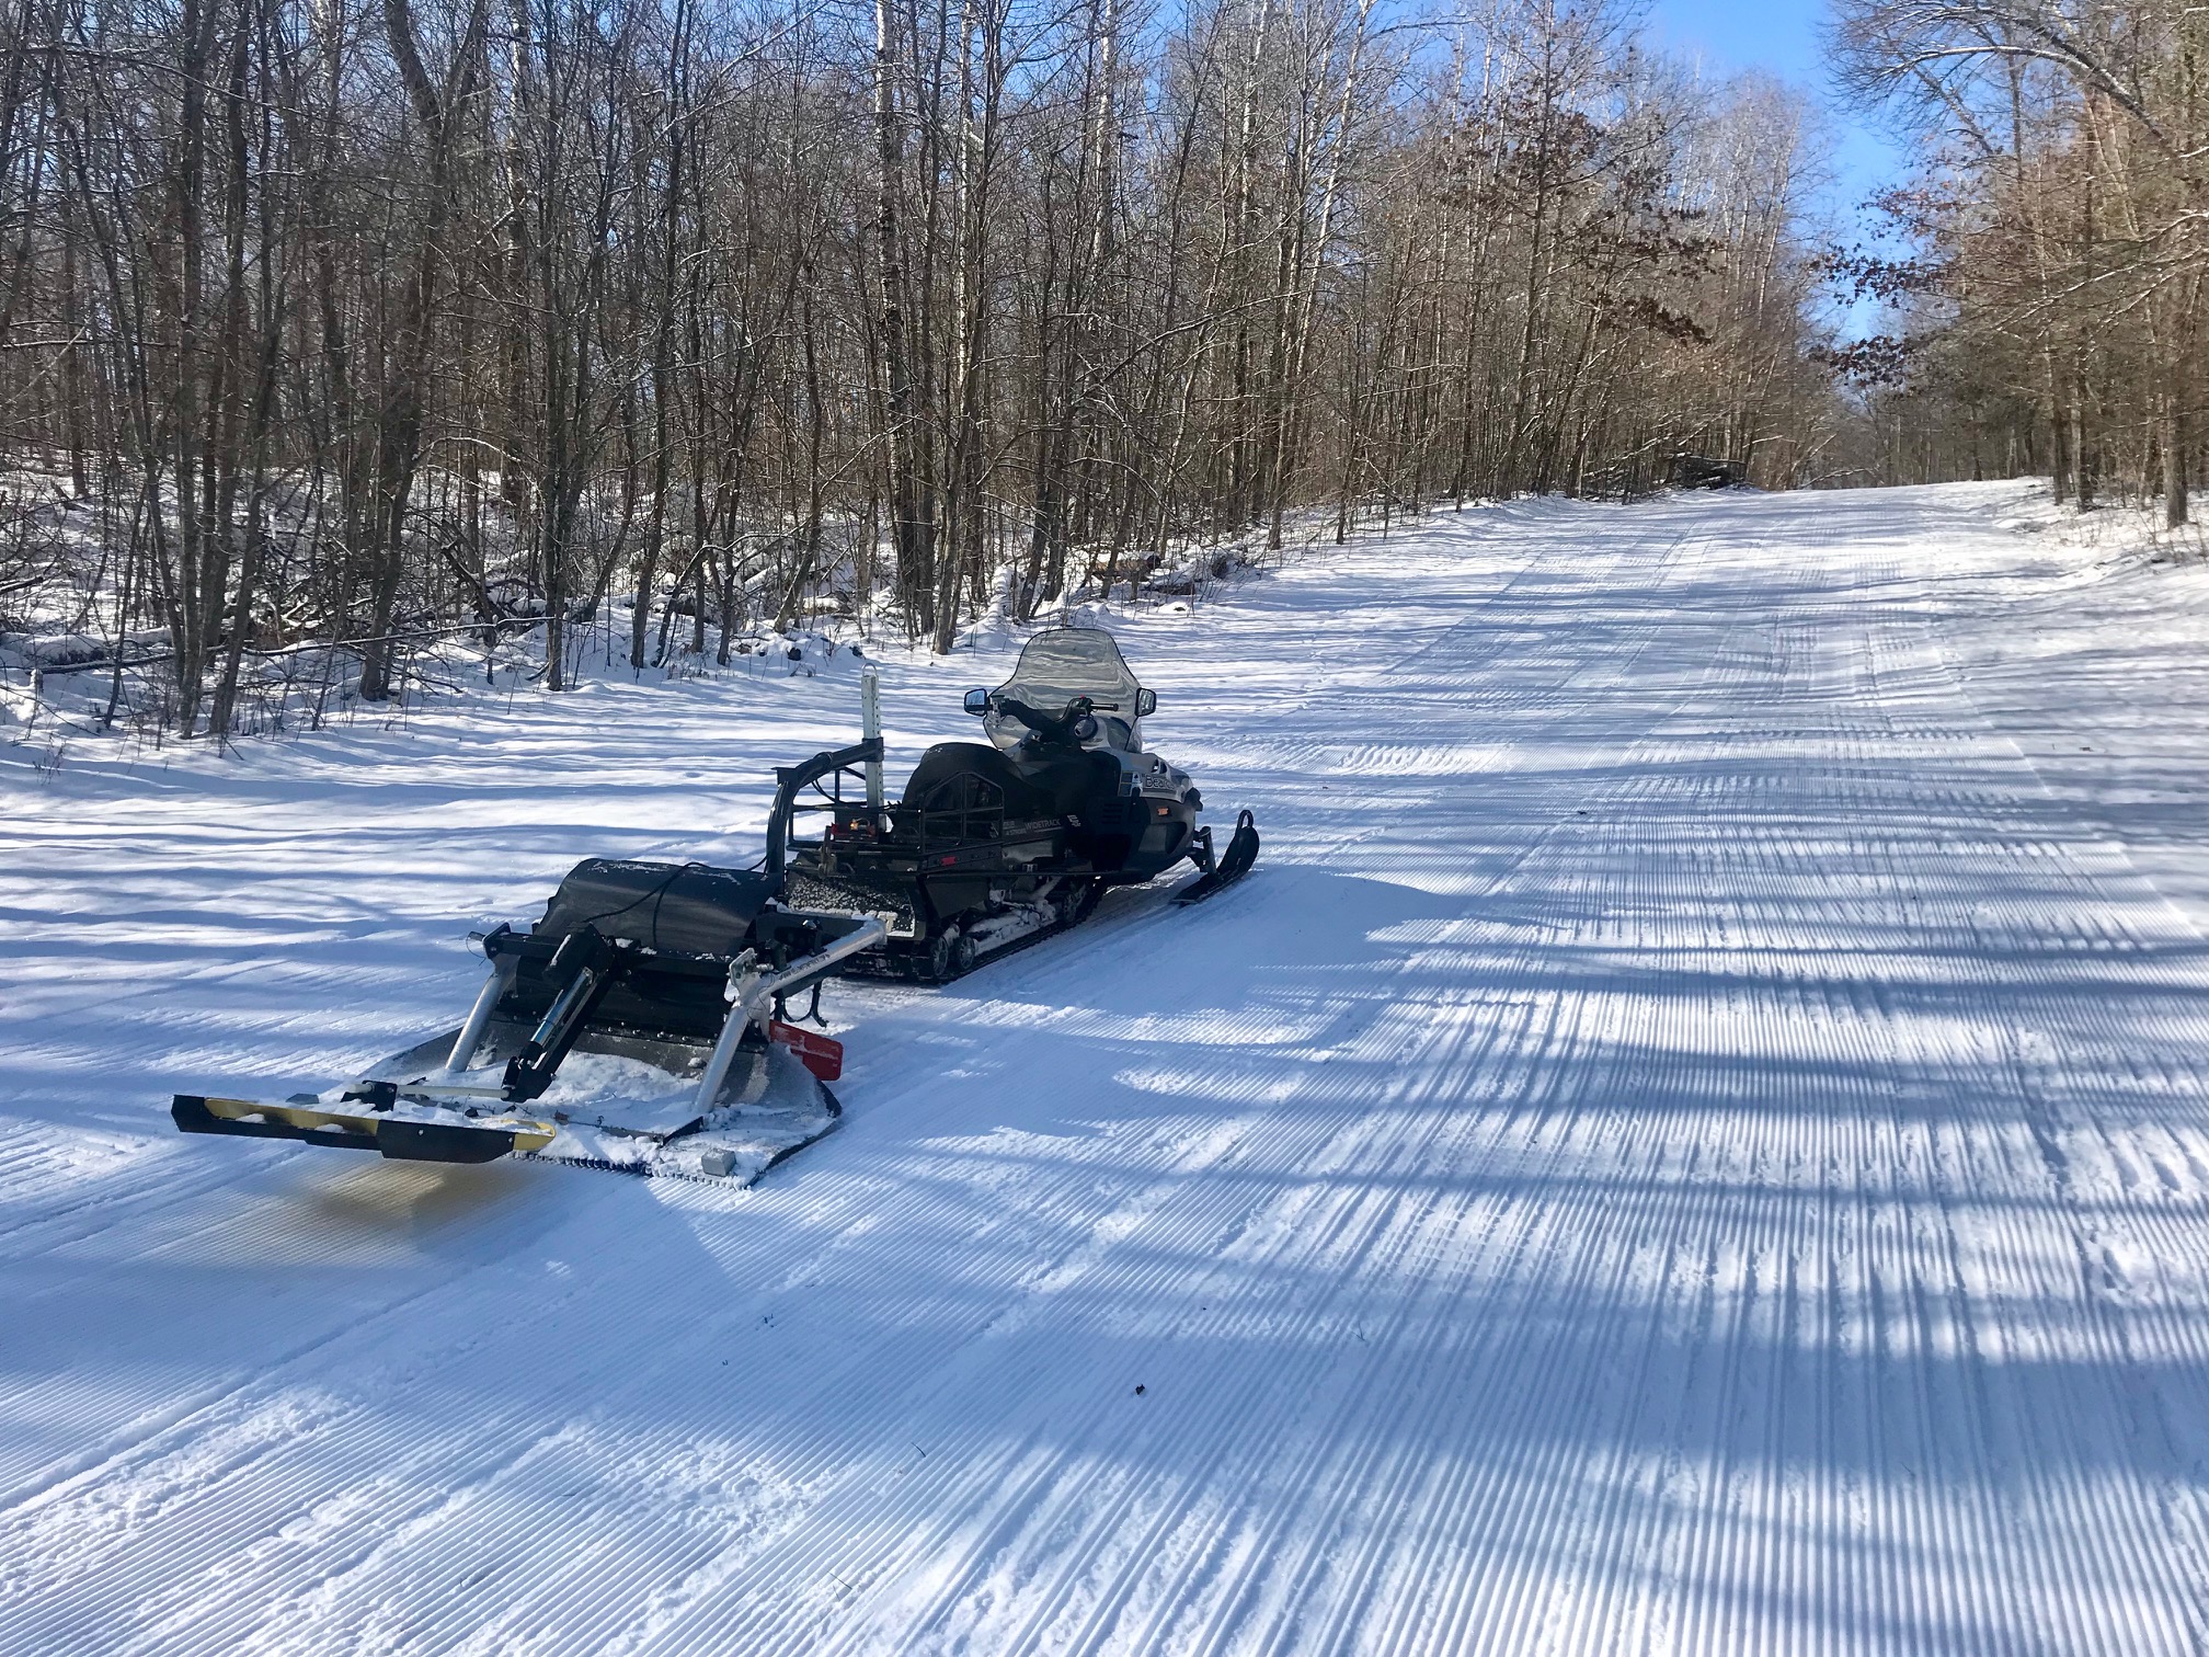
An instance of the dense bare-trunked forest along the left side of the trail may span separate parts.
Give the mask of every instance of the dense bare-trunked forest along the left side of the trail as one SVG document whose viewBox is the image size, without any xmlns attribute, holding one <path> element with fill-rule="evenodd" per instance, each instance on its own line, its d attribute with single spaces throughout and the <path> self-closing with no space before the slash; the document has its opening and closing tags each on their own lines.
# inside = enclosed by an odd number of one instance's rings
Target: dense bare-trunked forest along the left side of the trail
<svg viewBox="0 0 2209 1657">
<path fill-rule="evenodd" d="M 303 643 L 367 698 L 515 621 L 554 689 L 588 616 L 638 667 L 824 608 L 943 650 L 1314 515 L 1809 482 L 1836 431 L 1803 108 L 1604 0 L 0 27 L 0 627 L 135 641 L 183 733 Z"/>
</svg>

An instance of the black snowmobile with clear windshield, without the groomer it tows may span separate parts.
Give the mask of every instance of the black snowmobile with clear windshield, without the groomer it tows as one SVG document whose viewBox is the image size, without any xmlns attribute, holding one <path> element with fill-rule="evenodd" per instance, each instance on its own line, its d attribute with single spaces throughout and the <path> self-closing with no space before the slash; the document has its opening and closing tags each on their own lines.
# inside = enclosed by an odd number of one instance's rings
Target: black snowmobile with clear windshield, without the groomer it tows
<svg viewBox="0 0 2209 1657">
<path fill-rule="evenodd" d="M 1213 844 L 1197 784 L 1142 747 L 1155 709 L 1109 632 L 1036 634 L 1012 678 L 965 694 L 987 742 L 930 747 L 895 806 L 879 767 L 866 800 L 817 791 L 806 809 L 828 822 L 793 846 L 793 901 L 881 921 L 884 948 L 846 957 L 844 974 L 943 983 L 1182 862 L 1197 875 L 1175 901 L 1213 897 L 1250 870 L 1257 824 L 1244 811 L 1228 844 Z"/>
</svg>

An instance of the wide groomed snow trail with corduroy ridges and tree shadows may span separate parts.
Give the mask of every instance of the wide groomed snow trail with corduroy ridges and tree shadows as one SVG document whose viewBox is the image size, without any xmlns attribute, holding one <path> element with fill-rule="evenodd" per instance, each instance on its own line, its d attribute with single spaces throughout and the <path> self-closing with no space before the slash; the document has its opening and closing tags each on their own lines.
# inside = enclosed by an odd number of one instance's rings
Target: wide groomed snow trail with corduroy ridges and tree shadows
<svg viewBox="0 0 2209 1657">
<path fill-rule="evenodd" d="M 1999 499 L 1129 625 L 1259 873 L 835 994 L 749 1193 L 166 1089 L 435 1025 L 572 857 L 749 857 L 848 678 L 0 749 L 0 1653 L 2209 1646 L 2209 959 L 1948 667 Z M 998 665 L 890 669 L 903 753 Z"/>
</svg>

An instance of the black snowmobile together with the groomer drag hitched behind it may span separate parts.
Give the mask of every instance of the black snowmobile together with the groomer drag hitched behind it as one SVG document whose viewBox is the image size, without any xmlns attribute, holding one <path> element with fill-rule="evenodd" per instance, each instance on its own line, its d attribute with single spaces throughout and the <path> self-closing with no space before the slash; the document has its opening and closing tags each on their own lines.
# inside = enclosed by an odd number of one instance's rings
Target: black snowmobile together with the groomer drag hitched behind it
<svg viewBox="0 0 2209 1657">
<path fill-rule="evenodd" d="M 939 742 L 881 795 L 881 720 L 775 771 L 758 868 L 590 857 L 524 932 L 473 935 L 490 961 L 466 1021 L 367 1076 L 285 1100 L 177 1094 L 186 1133 L 281 1138 L 415 1162 L 526 1155 L 751 1184 L 835 1129 L 844 1049 L 789 996 L 868 970 L 941 981 L 1071 926 L 1107 886 L 1180 862 L 1202 901 L 1257 857 L 1226 851 L 1188 775 L 1144 753 L 1158 698 L 1111 636 L 1038 634 L 1014 676 L 965 698 L 992 742 Z M 859 791 L 846 798 L 848 791 Z M 826 811 L 797 840 L 804 811 Z"/>
</svg>

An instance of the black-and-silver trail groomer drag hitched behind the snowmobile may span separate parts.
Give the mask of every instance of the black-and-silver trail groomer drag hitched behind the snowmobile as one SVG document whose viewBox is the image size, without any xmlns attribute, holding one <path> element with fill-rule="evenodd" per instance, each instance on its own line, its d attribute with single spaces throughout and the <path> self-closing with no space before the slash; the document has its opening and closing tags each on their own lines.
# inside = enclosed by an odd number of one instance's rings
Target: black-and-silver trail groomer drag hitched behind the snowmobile
<svg viewBox="0 0 2209 1657">
<path fill-rule="evenodd" d="M 881 762 L 881 738 L 775 771 L 760 868 L 590 857 L 490 961 L 466 1021 L 323 1094 L 177 1094 L 186 1133 L 303 1140 L 413 1162 L 550 1162 L 751 1184 L 835 1129 L 844 1049 L 786 996 L 877 948 L 879 919 L 808 912 L 782 848 L 800 793 Z"/>
</svg>

